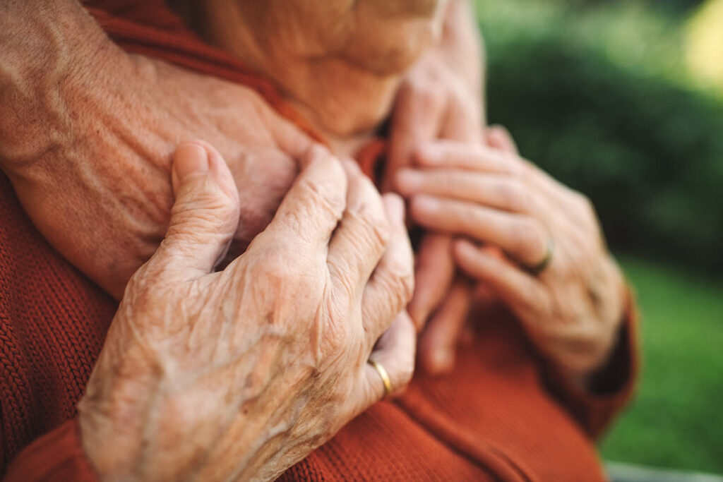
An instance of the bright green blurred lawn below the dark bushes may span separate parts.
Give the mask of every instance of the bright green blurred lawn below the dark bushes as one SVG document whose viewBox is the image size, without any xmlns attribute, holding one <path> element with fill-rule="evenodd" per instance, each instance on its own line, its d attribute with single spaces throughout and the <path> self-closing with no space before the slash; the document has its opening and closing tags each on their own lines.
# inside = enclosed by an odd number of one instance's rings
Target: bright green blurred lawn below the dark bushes
<svg viewBox="0 0 723 482">
<path fill-rule="evenodd" d="M 642 311 L 643 374 L 602 455 L 723 474 L 723 280 L 620 261 Z"/>
</svg>

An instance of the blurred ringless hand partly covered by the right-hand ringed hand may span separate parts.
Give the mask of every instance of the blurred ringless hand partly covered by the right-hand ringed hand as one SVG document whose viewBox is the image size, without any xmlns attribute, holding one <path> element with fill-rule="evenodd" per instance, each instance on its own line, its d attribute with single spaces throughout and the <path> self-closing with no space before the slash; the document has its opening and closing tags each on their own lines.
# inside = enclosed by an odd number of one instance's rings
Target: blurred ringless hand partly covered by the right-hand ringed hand
<svg viewBox="0 0 723 482">
<path fill-rule="evenodd" d="M 482 142 L 482 48 L 470 19 L 467 2 L 450 2 L 440 45 L 417 61 L 404 79 L 392 116 L 384 189 L 397 188 L 395 173 L 411 165 L 414 151 L 425 142 Z M 416 291 L 408 311 L 417 329 L 424 328 L 419 350 L 422 366 L 439 371 L 448 366 L 448 359 L 437 356 L 440 350 L 423 347 L 444 344 L 456 336 L 449 329 L 463 325 L 471 288 L 465 277 L 455 276 L 452 238 L 446 234 L 424 234 L 415 271 Z"/>
</svg>

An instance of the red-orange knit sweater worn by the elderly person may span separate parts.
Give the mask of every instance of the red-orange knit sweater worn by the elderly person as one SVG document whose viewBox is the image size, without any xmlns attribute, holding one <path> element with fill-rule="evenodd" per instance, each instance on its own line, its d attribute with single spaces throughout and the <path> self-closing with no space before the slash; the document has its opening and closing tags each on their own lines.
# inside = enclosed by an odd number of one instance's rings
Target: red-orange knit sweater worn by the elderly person
<svg viewBox="0 0 723 482">
<path fill-rule="evenodd" d="M 86 4 L 121 47 L 249 85 L 318 139 L 273 85 L 202 43 L 161 0 Z M 370 170 L 382 152 L 377 144 L 360 163 Z M 116 303 L 47 244 L 4 176 L 0 220 L 0 474 L 94 481 L 75 404 Z M 500 313 L 480 320 L 453 374 L 418 374 L 401 400 L 377 403 L 281 480 L 602 480 L 592 439 L 633 389 L 634 314 L 630 301 L 606 395 L 544 369 L 515 319 Z"/>
</svg>

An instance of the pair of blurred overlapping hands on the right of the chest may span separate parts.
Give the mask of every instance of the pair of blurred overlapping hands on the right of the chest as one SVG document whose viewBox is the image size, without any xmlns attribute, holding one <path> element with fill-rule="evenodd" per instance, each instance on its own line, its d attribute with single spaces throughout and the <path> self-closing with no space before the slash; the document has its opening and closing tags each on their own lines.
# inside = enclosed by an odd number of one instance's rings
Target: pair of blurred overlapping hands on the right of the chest
<svg viewBox="0 0 723 482">
<path fill-rule="evenodd" d="M 585 384 L 617 341 L 623 275 L 589 199 L 521 158 L 505 129 L 484 127 L 478 82 L 450 64 L 459 48 L 432 51 L 404 80 L 382 183 L 427 231 L 408 306 L 420 364 L 432 374 L 452 369 L 469 323 L 484 323 L 470 310 L 485 293 L 554 369 Z"/>
</svg>

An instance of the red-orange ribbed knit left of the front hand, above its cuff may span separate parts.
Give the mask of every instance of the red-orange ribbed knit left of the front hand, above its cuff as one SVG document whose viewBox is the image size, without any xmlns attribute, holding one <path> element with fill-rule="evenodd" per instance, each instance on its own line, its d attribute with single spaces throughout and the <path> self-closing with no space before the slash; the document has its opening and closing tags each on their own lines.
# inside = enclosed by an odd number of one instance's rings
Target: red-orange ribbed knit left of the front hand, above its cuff
<svg viewBox="0 0 723 482">
<path fill-rule="evenodd" d="M 0 463 L 76 415 L 113 299 L 40 236 L 0 175 Z"/>
</svg>

